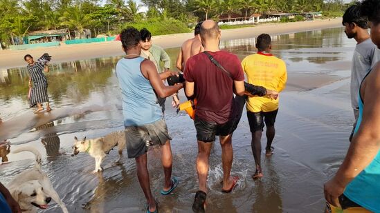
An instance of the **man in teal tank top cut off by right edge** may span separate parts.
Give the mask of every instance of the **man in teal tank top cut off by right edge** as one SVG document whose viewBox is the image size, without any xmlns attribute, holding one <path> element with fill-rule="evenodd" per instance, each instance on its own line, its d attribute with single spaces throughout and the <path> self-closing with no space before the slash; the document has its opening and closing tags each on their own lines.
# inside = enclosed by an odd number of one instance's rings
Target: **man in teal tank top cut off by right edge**
<svg viewBox="0 0 380 213">
<path fill-rule="evenodd" d="M 361 3 L 370 37 L 380 48 L 380 1 Z M 380 62 L 364 77 L 356 95 L 359 118 L 345 159 L 325 183 L 327 212 L 380 212 Z"/>
</svg>

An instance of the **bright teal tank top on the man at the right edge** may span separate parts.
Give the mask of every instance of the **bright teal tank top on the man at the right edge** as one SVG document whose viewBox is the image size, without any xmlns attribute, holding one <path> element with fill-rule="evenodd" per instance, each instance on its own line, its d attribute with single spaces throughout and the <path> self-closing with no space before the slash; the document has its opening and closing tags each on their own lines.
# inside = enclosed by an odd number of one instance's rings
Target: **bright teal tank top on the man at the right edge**
<svg viewBox="0 0 380 213">
<path fill-rule="evenodd" d="M 360 88 L 361 86 L 359 87 L 359 118 L 356 123 L 355 133 L 359 130 L 363 118 L 364 103 L 363 99 L 361 99 Z M 380 152 L 377 153 L 370 165 L 347 185 L 344 194 L 350 200 L 365 207 L 365 209 L 380 212 Z"/>
</svg>

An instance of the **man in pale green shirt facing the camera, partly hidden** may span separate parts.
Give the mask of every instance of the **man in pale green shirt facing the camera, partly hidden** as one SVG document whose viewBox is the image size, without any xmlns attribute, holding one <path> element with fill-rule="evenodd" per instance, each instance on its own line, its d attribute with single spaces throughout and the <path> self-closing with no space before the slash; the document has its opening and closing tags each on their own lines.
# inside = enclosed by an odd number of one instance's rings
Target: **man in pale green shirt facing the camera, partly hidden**
<svg viewBox="0 0 380 213">
<path fill-rule="evenodd" d="M 141 57 L 145 59 L 149 59 L 156 65 L 157 72 L 161 73 L 164 71 L 168 71 L 170 68 L 170 57 L 168 53 L 163 50 L 158 45 L 152 44 L 152 34 L 146 28 L 140 30 L 141 34 Z M 163 62 L 163 70 L 161 70 L 160 63 Z M 161 99 L 158 97 L 160 106 L 162 108 L 162 112 L 165 112 L 165 99 Z M 172 105 L 178 105 L 179 99 L 177 93 L 173 94 L 173 103 Z"/>
</svg>

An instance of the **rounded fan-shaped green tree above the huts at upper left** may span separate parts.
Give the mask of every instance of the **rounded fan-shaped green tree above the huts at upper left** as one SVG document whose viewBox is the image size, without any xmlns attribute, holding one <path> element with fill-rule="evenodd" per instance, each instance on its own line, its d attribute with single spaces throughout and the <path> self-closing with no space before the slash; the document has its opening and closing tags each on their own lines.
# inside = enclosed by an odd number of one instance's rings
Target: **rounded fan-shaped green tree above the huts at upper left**
<svg viewBox="0 0 380 213">
<path fill-rule="evenodd" d="M 73 6 L 67 8 L 63 17 L 60 17 L 60 21 L 62 21 L 62 26 L 77 29 L 80 33 L 80 39 L 82 39 L 84 28 L 91 24 L 91 17 L 84 14 L 79 6 Z"/>
</svg>

